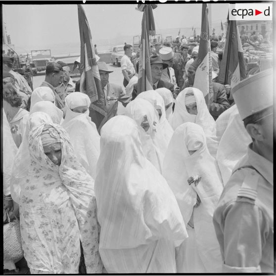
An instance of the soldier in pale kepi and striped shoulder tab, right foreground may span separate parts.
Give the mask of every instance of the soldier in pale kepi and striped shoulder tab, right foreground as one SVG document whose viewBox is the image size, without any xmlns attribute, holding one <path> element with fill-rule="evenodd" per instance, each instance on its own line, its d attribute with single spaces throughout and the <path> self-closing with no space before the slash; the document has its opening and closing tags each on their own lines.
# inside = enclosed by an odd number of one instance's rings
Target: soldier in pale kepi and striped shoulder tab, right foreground
<svg viewBox="0 0 276 276">
<path fill-rule="evenodd" d="M 247 154 L 232 171 L 214 213 L 224 273 L 274 273 L 273 70 L 232 89 Z"/>
</svg>

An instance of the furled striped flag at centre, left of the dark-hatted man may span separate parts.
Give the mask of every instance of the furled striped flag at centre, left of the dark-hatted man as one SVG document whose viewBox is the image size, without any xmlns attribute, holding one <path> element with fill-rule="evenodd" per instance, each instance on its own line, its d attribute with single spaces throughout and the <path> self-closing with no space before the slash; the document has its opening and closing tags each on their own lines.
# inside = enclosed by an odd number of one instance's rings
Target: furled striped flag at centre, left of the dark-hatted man
<svg viewBox="0 0 276 276">
<path fill-rule="evenodd" d="M 140 56 L 139 56 L 139 72 L 137 94 L 152 90 L 152 78 L 150 68 L 150 48 L 149 35 L 155 34 L 155 24 L 152 13 L 152 8 L 156 8 L 156 4 L 138 4 L 138 10 L 143 11 L 142 18 L 142 33 L 140 42 Z"/>
</svg>

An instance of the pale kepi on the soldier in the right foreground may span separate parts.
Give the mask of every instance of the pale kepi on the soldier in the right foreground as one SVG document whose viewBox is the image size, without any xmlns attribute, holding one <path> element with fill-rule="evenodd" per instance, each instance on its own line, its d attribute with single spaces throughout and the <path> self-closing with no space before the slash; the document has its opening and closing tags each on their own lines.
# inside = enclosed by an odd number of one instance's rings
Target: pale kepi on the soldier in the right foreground
<svg viewBox="0 0 276 276">
<path fill-rule="evenodd" d="M 273 70 L 249 77 L 232 88 L 241 119 L 273 105 Z"/>
</svg>

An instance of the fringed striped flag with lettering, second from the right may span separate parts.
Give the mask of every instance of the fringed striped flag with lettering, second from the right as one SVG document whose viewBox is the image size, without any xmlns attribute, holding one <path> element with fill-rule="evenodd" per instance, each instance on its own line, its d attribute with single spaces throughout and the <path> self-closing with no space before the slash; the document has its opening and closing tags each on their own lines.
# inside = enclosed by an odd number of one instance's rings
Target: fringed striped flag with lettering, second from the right
<svg viewBox="0 0 276 276">
<path fill-rule="evenodd" d="M 193 87 L 199 89 L 209 108 L 209 104 L 213 99 L 213 83 L 212 83 L 212 58 L 208 23 L 208 7 L 206 3 L 202 4 L 201 16 L 201 32 L 200 43 L 198 49 L 198 62 L 195 71 Z"/>
</svg>

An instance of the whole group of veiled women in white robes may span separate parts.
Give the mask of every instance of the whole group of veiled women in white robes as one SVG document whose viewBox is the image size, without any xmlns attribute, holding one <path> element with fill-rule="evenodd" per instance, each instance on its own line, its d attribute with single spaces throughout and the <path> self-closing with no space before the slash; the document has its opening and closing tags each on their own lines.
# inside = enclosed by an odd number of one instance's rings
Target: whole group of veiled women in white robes
<svg viewBox="0 0 276 276">
<path fill-rule="evenodd" d="M 196 88 L 141 92 L 99 135 L 84 93 L 65 116 L 47 87 L 18 103 L 4 88 L 3 187 L 32 274 L 78 274 L 82 254 L 87 273 L 221 272 L 213 214 L 251 142 L 236 105 L 215 121 Z"/>
</svg>

